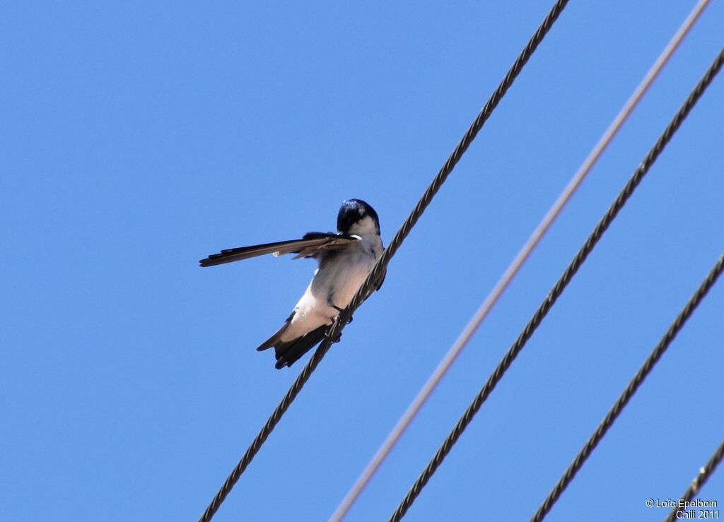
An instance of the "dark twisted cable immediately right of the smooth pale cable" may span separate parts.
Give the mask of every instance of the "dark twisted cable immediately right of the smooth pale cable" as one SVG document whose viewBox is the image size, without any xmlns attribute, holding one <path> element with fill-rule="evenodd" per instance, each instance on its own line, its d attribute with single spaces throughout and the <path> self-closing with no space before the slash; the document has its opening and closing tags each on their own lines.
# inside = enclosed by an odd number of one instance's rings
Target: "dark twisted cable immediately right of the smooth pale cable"
<svg viewBox="0 0 724 522">
<path fill-rule="evenodd" d="M 649 168 L 651 168 L 659 155 L 662 153 L 675 132 L 681 126 L 683 120 L 686 119 L 686 116 L 689 115 L 691 109 L 694 108 L 696 102 L 704 94 L 704 90 L 706 90 L 707 87 L 710 85 L 717 72 L 719 72 L 719 70 L 721 69 L 722 64 L 724 64 L 724 49 L 720 52 L 720 54 L 711 64 L 709 69 L 707 69 L 707 72 L 704 73 L 704 76 L 701 80 L 699 80 L 699 83 L 696 85 L 696 87 L 694 87 L 694 90 L 691 91 L 689 97 L 686 98 L 686 101 L 683 103 L 681 108 L 679 108 L 678 112 L 675 114 L 673 119 L 666 127 L 665 131 L 661 134 L 652 149 L 649 150 L 649 153 L 644 158 L 644 161 L 641 161 L 639 168 L 636 169 L 636 171 L 633 173 L 633 176 L 631 176 L 631 178 L 628 180 L 626 185 L 621 190 L 620 194 L 618 194 L 618 197 L 616 197 L 613 204 L 608 208 L 601 220 L 597 223 L 591 235 L 588 237 L 588 239 L 586 239 L 583 247 L 578 250 L 576 257 L 573 258 L 571 264 L 568 265 L 568 268 L 565 269 L 563 275 L 561 275 L 558 281 L 555 283 L 555 286 L 553 286 L 550 293 L 546 296 L 542 304 L 534 313 L 533 317 L 531 317 L 526 327 L 523 328 L 523 331 L 520 333 L 520 335 L 518 335 L 518 338 L 515 339 L 513 346 L 510 346 L 510 349 L 505 354 L 505 356 L 503 356 L 502 360 L 497 365 L 492 375 L 488 377 L 487 382 L 485 382 L 485 385 L 483 386 L 483 388 L 481 388 L 478 395 L 476 395 L 476 397 L 473 399 L 470 406 L 468 406 L 468 408 L 466 409 L 465 413 L 460 416 L 458 423 L 455 424 L 455 427 L 452 428 L 450 434 L 447 435 L 445 442 L 443 442 L 442 445 L 439 447 L 437 453 L 435 453 L 432 460 L 422 471 L 420 476 L 418 476 L 418 479 L 408 491 L 407 495 L 405 495 L 403 500 L 400 502 L 400 505 L 398 505 L 397 509 L 395 509 L 395 512 L 392 513 L 392 516 L 390 517 L 390 522 L 400 521 L 405 513 L 407 513 L 407 510 L 416 500 L 418 495 L 420 495 L 420 492 L 425 487 L 429 479 L 432 477 L 435 471 L 437 471 L 437 468 L 440 466 L 440 464 L 442 464 L 442 461 L 445 460 L 447 454 L 450 453 L 450 450 L 452 450 L 452 446 L 455 445 L 455 442 L 458 441 L 458 438 L 460 438 L 460 435 L 463 434 L 466 427 L 468 427 L 468 424 L 472 422 L 473 417 L 479 411 L 483 403 L 487 400 L 488 395 L 492 393 L 492 390 L 494 390 L 497 383 L 502 379 L 502 376 L 505 374 L 505 372 L 508 371 L 510 364 L 513 364 L 513 360 L 515 360 L 515 357 L 517 357 L 523 347 L 526 346 L 529 338 L 531 338 L 544 317 L 555 304 L 555 301 L 557 301 L 558 297 L 560 297 L 560 294 L 563 294 L 565 287 L 568 286 L 568 283 L 571 281 L 571 278 L 573 278 L 573 275 L 576 275 L 576 272 L 578 272 L 578 268 L 581 268 L 581 265 L 583 265 L 586 258 L 592 252 L 599 239 L 601 239 L 601 236 L 607 230 L 608 226 L 610 226 L 611 222 L 618 215 L 621 208 L 623 208 L 623 205 L 626 205 L 628 198 L 631 197 L 633 191 L 636 190 L 636 187 L 638 187 L 639 183 L 641 183 L 641 179 L 646 176 Z"/>
</svg>

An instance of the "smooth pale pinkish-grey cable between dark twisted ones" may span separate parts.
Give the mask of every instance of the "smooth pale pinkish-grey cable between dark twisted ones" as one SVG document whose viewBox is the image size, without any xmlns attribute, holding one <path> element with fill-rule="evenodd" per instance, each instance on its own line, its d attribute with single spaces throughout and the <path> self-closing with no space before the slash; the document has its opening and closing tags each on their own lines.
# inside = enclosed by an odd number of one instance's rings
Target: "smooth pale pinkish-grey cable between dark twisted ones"
<svg viewBox="0 0 724 522">
<path fill-rule="evenodd" d="M 571 199 L 573 192 L 576 192 L 578 185 L 580 185 L 589 174 L 589 171 L 611 140 L 613 140 L 613 137 L 621 128 L 623 122 L 626 121 L 628 116 L 631 114 L 631 111 L 633 111 L 633 108 L 635 108 L 639 103 L 639 100 L 641 100 L 644 96 L 644 93 L 646 93 L 649 86 L 661 72 L 683 38 L 687 33 L 689 33 L 689 30 L 694 25 L 694 22 L 699 19 L 699 15 L 702 14 L 704 8 L 707 7 L 709 2 L 710 0 L 699 0 L 694 9 L 692 9 L 691 13 L 689 13 L 689 16 L 686 17 L 686 20 L 683 21 L 681 27 L 678 28 L 675 35 L 673 35 L 673 38 L 671 38 L 670 42 L 654 62 L 651 69 L 649 69 L 649 72 L 647 72 L 644 80 L 641 80 L 639 86 L 633 91 L 631 98 L 628 99 L 626 105 L 623 106 L 616 115 L 615 119 L 613 119 L 613 122 L 610 124 L 608 129 L 606 129 L 606 132 L 604 132 L 601 139 L 597 142 L 596 146 L 588 155 L 584 163 L 580 168 L 578 168 L 576 174 L 573 176 L 571 181 L 568 182 L 568 185 L 565 189 L 563 189 L 563 192 L 561 192 L 560 196 L 558 196 L 558 199 L 555 201 L 550 210 L 548 210 L 548 213 L 545 215 L 533 234 L 531 234 L 526 244 L 523 245 L 521 251 L 518 252 L 518 255 L 515 256 L 515 259 L 513 259 L 513 262 L 510 263 L 508 268 L 505 270 L 505 273 L 503 273 L 490 294 L 488 294 L 485 298 L 481 307 L 475 313 L 470 322 L 468 322 L 468 325 L 465 327 L 463 332 L 460 333 L 457 341 L 450 346 L 447 354 L 445 354 L 445 357 L 443 357 L 442 361 L 439 362 L 435 371 L 432 372 L 432 375 L 430 375 L 429 379 L 425 382 L 425 385 L 412 401 L 407 411 L 405 411 L 405 414 L 403 414 L 403 416 L 400 417 L 400 420 L 397 421 L 397 424 L 395 424 L 395 427 L 390 432 L 390 435 L 387 435 L 387 439 L 384 440 L 382 446 L 380 446 L 372 460 L 367 464 L 353 487 L 342 502 L 340 502 L 340 505 L 337 506 L 337 509 L 334 510 L 332 517 L 329 518 L 330 522 L 339 522 L 347 514 L 348 510 L 352 507 L 355 500 L 357 500 L 362 490 L 369 483 L 375 471 L 377 471 L 377 468 L 379 468 L 382 461 L 387 458 L 387 455 L 389 455 L 397 440 L 400 439 L 403 432 L 405 432 L 405 429 L 407 429 L 412 420 L 415 418 L 417 412 L 420 411 L 420 408 L 423 406 L 427 398 L 429 398 L 430 394 L 437 387 L 437 384 L 440 380 L 442 380 L 442 377 L 447 372 L 447 369 L 450 368 L 452 362 L 455 361 L 460 352 L 463 351 L 463 348 L 465 348 L 466 343 L 468 343 L 470 338 L 473 336 L 473 333 L 475 333 L 481 322 L 483 322 L 485 317 L 487 317 L 488 313 L 492 307 L 494 307 L 497 300 L 500 299 L 500 296 L 503 294 L 505 289 L 508 288 L 510 281 L 512 281 L 513 278 L 515 278 L 515 275 L 518 274 L 518 271 L 521 270 L 523 263 L 526 262 L 531 252 L 533 252 L 544 234 L 548 231 L 548 228 L 550 228 L 553 221 L 555 221 L 555 218 L 557 218 L 560 211 L 563 210 L 563 207 L 565 207 L 566 203 L 568 203 L 568 200 Z"/>
</svg>

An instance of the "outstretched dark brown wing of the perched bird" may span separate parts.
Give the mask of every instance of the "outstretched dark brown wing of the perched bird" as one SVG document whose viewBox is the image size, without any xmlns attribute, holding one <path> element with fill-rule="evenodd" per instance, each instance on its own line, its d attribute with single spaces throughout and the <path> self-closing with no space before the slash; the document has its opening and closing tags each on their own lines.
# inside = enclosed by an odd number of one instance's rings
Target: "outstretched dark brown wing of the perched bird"
<svg viewBox="0 0 724 522">
<path fill-rule="evenodd" d="M 239 247 L 222 250 L 219 254 L 211 254 L 199 261 L 202 267 L 223 265 L 233 261 L 248 259 L 264 254 L 297 254 L 298 257 L 314 257 L 325 250 L 336 250 L 345 247 L 353 241 L 359 241 L 355 236 L 333 234 L 332 232 L 309 232 L 302 239 L 290 241 L 277 241 L 276 243 L 256 244 L 252 247 Z"/>
</svg>

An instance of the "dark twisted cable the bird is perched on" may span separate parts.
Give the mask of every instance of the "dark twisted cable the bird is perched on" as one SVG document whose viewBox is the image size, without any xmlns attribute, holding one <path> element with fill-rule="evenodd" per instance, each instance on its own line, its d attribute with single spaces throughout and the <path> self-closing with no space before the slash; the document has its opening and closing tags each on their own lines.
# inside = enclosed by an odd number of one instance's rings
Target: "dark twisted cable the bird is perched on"
<svg viewBox="0 0 724 522">
<path fill-rule="evenodd" d="M 497 107 L 498 103 L 500 103 L 500 100 L 502 100 L 503 96 L 505 96 L 505 93 L 508 92 L 510 86 L 513 85 L 515 78 L 517 78 L 518 74 L 521 73 L 523 66 L 528 62 L 530 57 L 536 51 L 539 43 L 542 42 L 543 38 L 548 33 L 550 27 L 553 25 L 555 20 L 557 20 L 558 15 L 560 14 L 560 12 L 563 11 L 563 8 L 566 4 L 568 4 L 568 0 L 558 0 L 555 3 L 542 25 L 538 27 L 538 30 L 536 30 L 536 33 L 528 42 L 528 45 L 526 45 L 518 58 L 515 59 L 513 66 L 510 67 L 508 73 L 505 74 L 505 78 L 503 78 L 502 82 L 500 82 L 500 85 L 498 85 L 497 89 L 487 100 L 487 103 L 485 103 L 485 106 L 476 116 L 476 119 L 468 128 L 468 131 L 463 136 L 463 139 L 460 140 L 458 146 L 455 147 L 455 150 L 452 151 L 450 157 L 447 158 L 445 165 L 440 168 L 437 176 L 435 176 L 435 178 L 432 180 L 430 186 L 427 187 L 425 193 L 417 202 L 417 205 L 415 205 L 410 215 L 408 215 L 408 218 L 397 231 L 397 234 L 395 234 L 395 237 L 393 237 L 392 241 L 390 241 L 390 244 L 387 245 L 386 249 L 384 249 L 384 252 L 382 252 L 382 256 L 379 258 L 379 260 L 377 260 L 374 268 L 372 268 L 372 271 L 367 276 L 366 280 L 362 283 L 362 286 L 359 288 L 355 296 L 353 296 L 350 304 L 348 304 L 348 306 L 340 313 L 340 316 L 334 322 L 332 328 L 330 328 L 329 333 L 327 333 L 327 338 L 325 338 L 324 341 L 322 341 L 321 345 L 319 345 L 319 348 L 316 349 L 306 367 L 304 367 L 302 372 L 297 377 L 297 380 L 295 380 L 294 384 L 292 384 L 292 387 L 289 389 L 289 391 L 287 391 L 285 397 L 279 403 L 277 408 L 274 409 L 274 412 L 271 414 L 271 416 L 269 416 L 266 424 L 264 424 L 264 427 L 261 429 L 260 432 L 258 432 L 258 435 L 256 435 L 241 460 L 232 470 L 231 474 L 228 476 L 221 489 L 219 489 L 219 492 L 216 493 L 214 500 L 211 501 L 209 507 L 206 508 L 206 511 L 203 513 L 203 515 L 201 515 L 201 518 L 199 519 L 200 522 L 209 522 L 211 518 L 213 518 L 214 513 L 219 510 L 219 506 L 222 505 L 222 502 L 224 502 L 224 499 L 227 497 L 227 495 L 229 495 L 232 488 L 239 480 L 241 474 L 243 474 L 249 463 L 251 463 L 254 455 L 258 453 L 261 445 L 264 444 L 266 438 L 269 437 L 269 434 L 271 434 L 271 432 L 274 430 L 274 427 L 279 422 L 279 419 L 282 418 L 282 415 L 284 415 L 285 411 L 287 411 L 287 408 L 289 408 L 292 401 L 294 401 L 295 397 L 298 395 L 304 384 L 309 379 L 311 373 L 314 371 L 314 369 L 316 369 L 321 359 L 323 359 L 324 356 L 327 354 L 327 351 L 329 351 L 329 347 L 332 345 L 331 340 L 339 338 L 340 333 L 342 333 L 342 329 L 345 328 L 345 325 L 348 324 L 348 320 L 350 319 L 350 317 L 352 317 L 355 310 L 360 306 L 366 296 L 369 295 L 369 293 L 372 291 L 373 286 L 377 283 L 377 281 L 379 281 L 379 278 L 382 276 L 382 274 L 384 274 L 384 271 L 387 269 L 387 264 L 392 259 L 392 256 L 395 255 L 397 249 L 400 248 L 400 245 L 403 243 L 403 241 L 405 241 L 405 238 L 408 236 L 408 234 L 410 234 L 413 226 L 415 226 L 418 219 L 424 213 L 430 202 L 432 202 L 432 198 L 435 196 L 435 194 L 437 194 L 437 191 L 440 189 L 440 187 L 442 187 L 442 184 L 447 179 L 447 176 L 450 175 L 452 169 L 455 168 L 455 166 L 458 164 L 460 158 L 463 156 L 466 150 L 468 150 L 468 147 L 470 147 L 471 143 L 477 136 L 480 129 L 482 129 L 487 119 Z"/>
</svg>

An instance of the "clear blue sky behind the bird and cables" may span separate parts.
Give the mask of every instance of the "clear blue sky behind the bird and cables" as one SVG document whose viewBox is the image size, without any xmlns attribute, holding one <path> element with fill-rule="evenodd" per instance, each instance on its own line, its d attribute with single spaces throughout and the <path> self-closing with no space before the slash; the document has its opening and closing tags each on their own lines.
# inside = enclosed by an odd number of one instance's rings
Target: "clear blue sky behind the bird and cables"
<svg viewBox="0 0 724 522">
<path fill-rule="evenodd" d="M 254 348 L 314 264 L 197 261 L 350 197 L 387 243 L 551 5 L 4 2 L 2 518 L 198 518 L 308 360 Z M 693 5 L 571 2 L 217 520 L 332 513 Z M 392 513 L 723 25 L 714 2 L 348 520 Z M 409 520 L 534 513 L 722 252 L 723 121 L 718 77 Z M 723 310 L 720 282 L 550 520 L 663 518 L 724 437 Z"/>
</svg>

